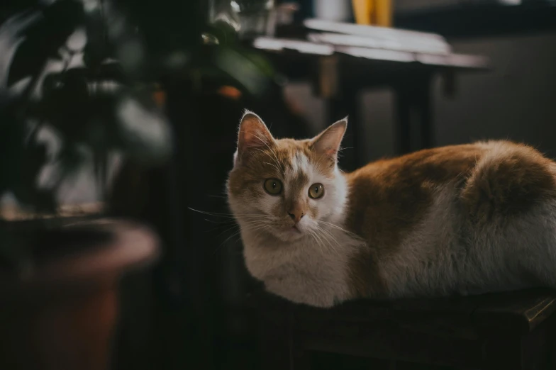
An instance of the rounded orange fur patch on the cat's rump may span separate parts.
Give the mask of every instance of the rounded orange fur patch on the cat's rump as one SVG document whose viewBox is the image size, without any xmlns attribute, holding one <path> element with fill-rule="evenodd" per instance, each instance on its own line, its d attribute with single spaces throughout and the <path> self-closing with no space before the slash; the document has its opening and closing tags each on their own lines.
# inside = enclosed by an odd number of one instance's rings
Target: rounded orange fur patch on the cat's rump
<svg viewBox="0 0 556 370">
<path fill-rule="evenodd" d="M 460 194 L 473 220 L 506 217 L 556 198 L 556 164 L 540 152 L 505 141 L 480 145 L 486 152 Z"/>
</svg>

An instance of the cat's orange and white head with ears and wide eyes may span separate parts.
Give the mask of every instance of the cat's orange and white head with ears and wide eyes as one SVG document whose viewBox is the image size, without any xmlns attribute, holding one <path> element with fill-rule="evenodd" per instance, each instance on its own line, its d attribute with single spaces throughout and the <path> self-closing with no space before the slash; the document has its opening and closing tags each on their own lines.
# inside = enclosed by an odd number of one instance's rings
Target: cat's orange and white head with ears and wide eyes
<svg viewBox="0 0 556 370">
<path fill-rule="evenodd" d="M 228 201 L 241 228 L 282 241 L 318 234 L 345 206 L 338 169 L 347 118 L 308 140 L 277 140 L 255 113 L 240 123 Z"/>
</svg>

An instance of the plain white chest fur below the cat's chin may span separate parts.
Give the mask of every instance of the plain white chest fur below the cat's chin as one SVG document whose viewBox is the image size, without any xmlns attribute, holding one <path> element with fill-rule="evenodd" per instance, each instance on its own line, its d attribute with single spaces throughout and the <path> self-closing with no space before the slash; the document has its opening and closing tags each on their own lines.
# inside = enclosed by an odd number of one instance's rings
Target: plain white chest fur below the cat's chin
<svg viewBox="0 0 556 370">
<path fill-rule="evenodd" d="M 328 228 L 295 242 L 242 230 L 245 263 L 268 291 L 296 303 L 330 307 L 349 298 L 348 262 L 360 242 Z"/>
</svg>

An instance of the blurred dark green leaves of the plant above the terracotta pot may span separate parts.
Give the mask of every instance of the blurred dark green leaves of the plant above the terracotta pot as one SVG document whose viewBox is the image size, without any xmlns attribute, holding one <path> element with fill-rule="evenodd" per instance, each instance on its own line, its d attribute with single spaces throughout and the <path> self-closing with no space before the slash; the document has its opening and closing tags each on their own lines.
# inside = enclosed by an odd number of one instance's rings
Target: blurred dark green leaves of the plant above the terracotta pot
<svg viewBox="0 0 556 370">
<path fill-rule="evenodd" d="M 84 148 L 101 183 L 111 152 L 141 164 L 164 162 L 173 140 L 152 99 L 161 82 L 208 79 L 265 94 L 272 67 L 240 43 L 233 27 L 208 25 L 208 3 L 4 0 L 0 197 L 11 192 L 23 206 L 55 212 L 57 186 L 82 166 Z M 45 128 L 60 138 L 55 154 L 38 138 Z M 40 189 L 47 162 L 60 168 L 58 179 Z"/>
</svg>

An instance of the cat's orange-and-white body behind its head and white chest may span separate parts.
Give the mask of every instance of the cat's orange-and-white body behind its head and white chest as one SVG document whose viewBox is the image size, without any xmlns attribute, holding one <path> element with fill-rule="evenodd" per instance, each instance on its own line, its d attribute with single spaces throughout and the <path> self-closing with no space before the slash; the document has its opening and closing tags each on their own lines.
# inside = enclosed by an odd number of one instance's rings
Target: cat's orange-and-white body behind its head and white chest
<svg viewBox="0 0 556 370">
<path fill-rule="evenodd" d="M 372 264 L 389 296 L 526 286 L 520 274 L 528 266 L 556 259 L 555 167 L 532 147 L 496 141 L 423 150 L 347 174 L 345 227 L 367 242 L 350 264 L 350 276 L 367 276 L 352 278 L 354 291 L 372 290 L 356 284 L 372 280 Z"/>
</svg>

